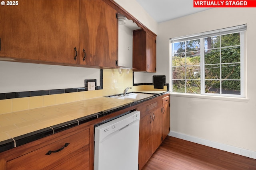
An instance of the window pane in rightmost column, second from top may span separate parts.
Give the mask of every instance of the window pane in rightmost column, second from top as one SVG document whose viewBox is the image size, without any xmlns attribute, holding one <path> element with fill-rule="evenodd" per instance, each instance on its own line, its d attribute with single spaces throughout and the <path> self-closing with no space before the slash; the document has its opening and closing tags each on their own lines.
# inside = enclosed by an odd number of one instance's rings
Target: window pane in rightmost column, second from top
<svg viewBox="0 0 256 170">
<path fill-rule="evenodd" d="M 221 50 L 221 63 L 240 62 L 240 46 L 223 48 Z"/>
</svg>

